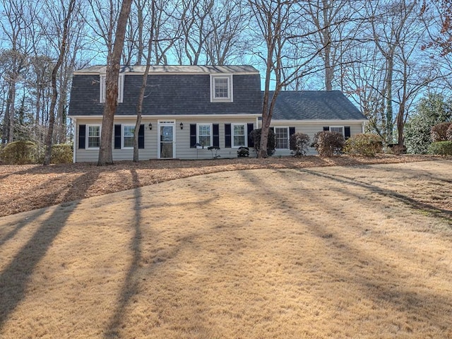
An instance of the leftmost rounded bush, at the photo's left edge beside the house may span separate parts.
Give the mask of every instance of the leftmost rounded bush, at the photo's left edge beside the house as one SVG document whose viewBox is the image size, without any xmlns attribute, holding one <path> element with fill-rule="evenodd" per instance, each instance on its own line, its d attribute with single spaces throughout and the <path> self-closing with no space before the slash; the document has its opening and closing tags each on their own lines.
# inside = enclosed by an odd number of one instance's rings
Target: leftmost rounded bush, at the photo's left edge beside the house
<svg viewBox="0 0 452 339">
<path fill-rule="evenodd" d="M 38 159 L 38 146 L 31 141 L 14 141 L 1 150 L 1 163 L 4 165 L 35 164 Z"/>
</svg>

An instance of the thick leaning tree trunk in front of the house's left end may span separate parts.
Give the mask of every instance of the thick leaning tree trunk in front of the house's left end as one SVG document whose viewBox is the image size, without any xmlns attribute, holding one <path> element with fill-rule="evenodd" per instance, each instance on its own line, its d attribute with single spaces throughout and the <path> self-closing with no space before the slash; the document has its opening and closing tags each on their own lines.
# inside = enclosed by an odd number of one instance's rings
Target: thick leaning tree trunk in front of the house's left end
<svg viewBox="0 0 452 339">
<path fill-rule="evenodd" d="M 121 62 L 122 48 L 124 47 L 124 36 L 126 35 L 127 20 L 132 0 L 123 0 L 121 5 L 121 13 L 119 13 L 116 35 L 114 37 L 112 57 L 107 64 L 107 78 L 105 85 L 107 90 L 105 93 L 105 107 L 102 117 L 102 132 L 100 133 L 99 159 L 97 166 L 105 166 L 113 164 L 112 152 L 112 136 L 114 113 L 117 109 L 118 99 L 118 79 L 119 68 Z"/>
</svg>

